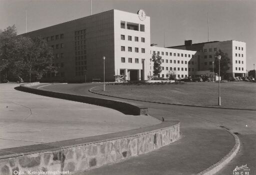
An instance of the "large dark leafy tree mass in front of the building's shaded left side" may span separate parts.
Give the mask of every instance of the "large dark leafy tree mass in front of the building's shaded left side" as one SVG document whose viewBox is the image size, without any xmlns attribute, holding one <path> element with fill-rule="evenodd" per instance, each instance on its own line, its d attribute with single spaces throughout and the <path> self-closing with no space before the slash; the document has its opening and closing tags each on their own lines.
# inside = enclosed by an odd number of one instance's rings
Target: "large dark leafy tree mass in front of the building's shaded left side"
<svg viewBox="0 0 256 175">
<path fill-rule="evenodd" d="M 48 71 L 54 71 L 52 48 L 41 37 L 17 36 L 15 26 L 0 32 L 0 72 L 7 76 L 27 76 L 40 79 Z"/>
</svg>

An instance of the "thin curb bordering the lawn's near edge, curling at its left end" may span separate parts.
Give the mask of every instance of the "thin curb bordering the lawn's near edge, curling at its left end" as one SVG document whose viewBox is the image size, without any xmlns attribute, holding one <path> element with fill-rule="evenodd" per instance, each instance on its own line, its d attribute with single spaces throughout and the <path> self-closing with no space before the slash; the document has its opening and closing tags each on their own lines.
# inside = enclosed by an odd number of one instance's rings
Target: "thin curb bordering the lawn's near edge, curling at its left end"
<svg viewBox="0 0 256 175">
<path fill-rule="evenodd" d="M 152 102 L 152 103 L 158 103 L 158 104 L 171 104 L 171 105 L 180 105 L 180 106 L 191 106 L 191 107 L 205 107 L 205 108 L 218 108 L 218 109 L 234 109 L 234 110 L 256 110 L 256 109 L 243 109 L 243 108 L 228 108 L 228 107 L 210 107 L 210 106 L 202 106 L 202 105 L 190 105 L 190 104 L 176 104 L 176 103 L 167 103 L 167 102 L 157 102 L 157 101 L 147 101 L 147 100 L 141 100 L 141 99 L 133 99 L 133 98 L 125 98 L 125 97 L 119 97 L 119 96 L 113 96 L 113 95 L 107 95 L 104 93 L 98 93 L 95 91 L 92 91 L 93 88 L 97 86 L 91 87 L 89 89 L 89 92 L 104 95 L 104 96 L 111 96 L 115 98 L 121 98 L 121 99 L 129 99 L 129 100 L 135 100 L 135 101 L 143 101 L 143 102 Z"/>
</svg>

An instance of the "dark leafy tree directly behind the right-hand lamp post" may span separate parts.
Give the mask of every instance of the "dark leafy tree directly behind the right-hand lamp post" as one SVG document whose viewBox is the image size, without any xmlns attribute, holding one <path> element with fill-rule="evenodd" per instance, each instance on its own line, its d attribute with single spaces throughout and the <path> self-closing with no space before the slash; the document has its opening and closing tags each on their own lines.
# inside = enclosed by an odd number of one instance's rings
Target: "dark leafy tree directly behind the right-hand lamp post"
<svg viewBox="0 0 256 175">
<path fill-rule="evenodd" d="M 226 71 L 229 69 L 228 64 L 230 63 L 230 59 L 228 58 L 227 53 L 222 52 L 220 49 L 215 53 L 215 60 L 214 60 L 214 72 L 218 74 L 218 59 L 217 56 L 220 55 L 220 76 L 224 76 L 224 78 L 227 78 L 228 74 Z"/>
</svg>

